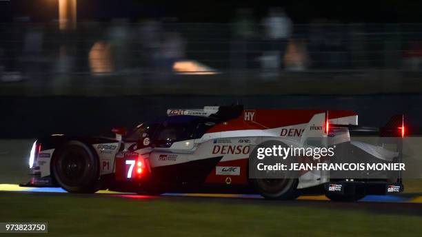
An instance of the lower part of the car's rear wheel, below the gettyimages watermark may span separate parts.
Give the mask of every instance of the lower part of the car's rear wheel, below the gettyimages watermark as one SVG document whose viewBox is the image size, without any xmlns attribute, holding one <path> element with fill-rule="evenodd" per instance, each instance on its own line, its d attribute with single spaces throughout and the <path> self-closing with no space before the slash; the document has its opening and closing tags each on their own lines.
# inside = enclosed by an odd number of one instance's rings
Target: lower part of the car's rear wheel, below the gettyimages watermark
<svg viewBox="0 0 422 237">
<path fill-rule="evenodd" d="M 294 200 L 297 192 L 297 178 L 262 178 L 251 179 L 250 183 L 261 196 L 274 200 Z"/>
</svg>

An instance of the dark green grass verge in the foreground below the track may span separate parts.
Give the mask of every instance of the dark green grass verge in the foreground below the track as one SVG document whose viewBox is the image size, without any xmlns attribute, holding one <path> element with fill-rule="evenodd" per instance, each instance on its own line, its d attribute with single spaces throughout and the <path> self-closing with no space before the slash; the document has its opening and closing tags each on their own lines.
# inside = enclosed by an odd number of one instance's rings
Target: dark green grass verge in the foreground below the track
<svg viewBox="0 0 422 237">
<path fill-rule="evenodd" d="M 0 193 L 0 222 L 50 236 L 420 236 L 422 218 L 361 209 L 208 199 Z"/>
</svg>

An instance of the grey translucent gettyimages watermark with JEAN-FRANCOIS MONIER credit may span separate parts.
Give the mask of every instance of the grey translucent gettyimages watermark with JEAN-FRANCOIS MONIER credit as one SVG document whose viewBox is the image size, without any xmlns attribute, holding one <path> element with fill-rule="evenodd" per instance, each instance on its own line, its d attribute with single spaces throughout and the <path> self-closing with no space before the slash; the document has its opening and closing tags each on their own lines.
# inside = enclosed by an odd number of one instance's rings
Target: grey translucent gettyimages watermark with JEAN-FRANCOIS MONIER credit
<svg viewBox="0 0 422 237">
<path fill-rule="evenodd" d="M 319 139 L 321 143 L 321 138 Z M 389 150 L 385 143 L 373 145 L 343 142 L 336 145 L 294 147 L 281 141 L 269 141 L 252 150 L 249 176 L 298 178 L 310 172 L 330 178 L 401 178 L 403 172 L 408 172 L 408 176 L 421 178 L 420 169 L 410 171 L 410 165 L 403 161 L 405 152 L 403 142 L 400 142 L 394 143 L 394 149 Z M 422 167 L 421 158 L 410 161 L 414 163 L 412 166 Z"/>
</svg>

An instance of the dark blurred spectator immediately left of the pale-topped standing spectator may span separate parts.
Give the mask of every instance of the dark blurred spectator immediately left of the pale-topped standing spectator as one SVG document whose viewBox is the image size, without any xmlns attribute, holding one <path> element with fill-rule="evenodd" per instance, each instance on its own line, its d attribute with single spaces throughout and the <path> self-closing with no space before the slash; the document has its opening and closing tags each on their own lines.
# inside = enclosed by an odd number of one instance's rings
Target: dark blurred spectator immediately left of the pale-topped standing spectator
<svg viewBox="0 0 422 237">
<path fill-rule="evenodd" d="M 248 68 L 248 41 L 254 36 L 254 19 L 250 8 L 237 10 L 237 17 L 232 25 L 230 46 L 231 68 L 244 72 Z"/>
</svg>

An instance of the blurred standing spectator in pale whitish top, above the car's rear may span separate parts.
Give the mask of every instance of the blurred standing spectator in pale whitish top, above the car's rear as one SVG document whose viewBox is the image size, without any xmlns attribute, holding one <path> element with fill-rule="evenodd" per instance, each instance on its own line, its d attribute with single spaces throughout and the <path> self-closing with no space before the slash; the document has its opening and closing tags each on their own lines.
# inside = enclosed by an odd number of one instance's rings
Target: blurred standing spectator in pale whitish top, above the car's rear
<svg viewBox="0 0 422 237">
<path fill-rule="evenodd" d="M 283 8 L 272 8 L 262 23 L 269 46 L 261 58 L 264 76 L 277 76 L 280 66 L 283 65 L 285 48 L 292 34 L 292 21 Z"/>
</svg>

